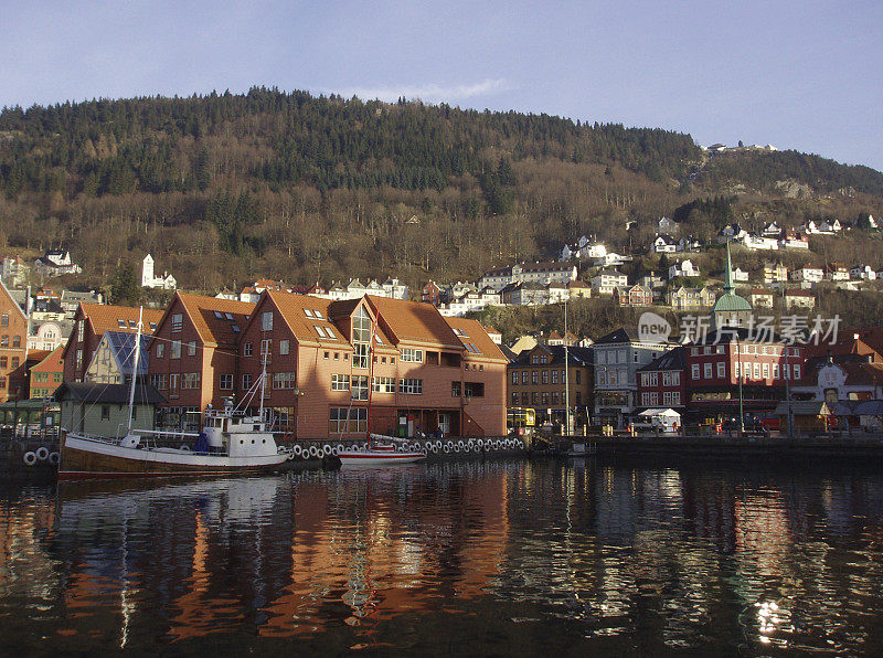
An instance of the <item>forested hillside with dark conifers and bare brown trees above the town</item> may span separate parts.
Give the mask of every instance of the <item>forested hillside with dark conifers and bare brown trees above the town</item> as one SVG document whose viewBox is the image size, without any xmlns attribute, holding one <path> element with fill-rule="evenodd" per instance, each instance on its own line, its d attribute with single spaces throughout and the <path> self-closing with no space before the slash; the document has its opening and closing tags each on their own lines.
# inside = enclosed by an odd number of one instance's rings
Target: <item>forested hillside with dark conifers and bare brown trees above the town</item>
<svg viewBox="0 0 883 658">
<path fill-rule="evenodd" d="M 149 251 L 208 289 L 390 274 L 413 286 L 586 233 L 634 250 L 662 214 L 709 235 L 734 217 L 883 209 L 883 174 L 816 156 L 709 160 L 660 129 L 265 88 L 7 108 L 0 190 L 7 253 L 64 246 L 103 285 Z"/>
</svg>

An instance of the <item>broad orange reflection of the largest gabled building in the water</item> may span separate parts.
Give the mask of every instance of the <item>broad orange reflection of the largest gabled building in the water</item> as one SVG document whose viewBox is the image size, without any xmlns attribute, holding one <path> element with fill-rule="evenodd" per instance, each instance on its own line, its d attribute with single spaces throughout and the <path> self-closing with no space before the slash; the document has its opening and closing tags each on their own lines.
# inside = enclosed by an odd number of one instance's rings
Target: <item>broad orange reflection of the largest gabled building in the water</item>
<svg viewBox="0 0 883 658">
<path fill-rule="evenodd" d="M 507 471 L 457 466 L 454 476 L 439 465 L 419 478 L 407 469 L 352 470 L 333 482 L 302 481 L 289 583 L 267 605 L 260 634 L 313 633 L 336 591 L 350 625 L 429 612 L 448 594 L 482 595 L 507 549 Z M 439 592 L 445 586 L 454 592 Z"/>
</svg>

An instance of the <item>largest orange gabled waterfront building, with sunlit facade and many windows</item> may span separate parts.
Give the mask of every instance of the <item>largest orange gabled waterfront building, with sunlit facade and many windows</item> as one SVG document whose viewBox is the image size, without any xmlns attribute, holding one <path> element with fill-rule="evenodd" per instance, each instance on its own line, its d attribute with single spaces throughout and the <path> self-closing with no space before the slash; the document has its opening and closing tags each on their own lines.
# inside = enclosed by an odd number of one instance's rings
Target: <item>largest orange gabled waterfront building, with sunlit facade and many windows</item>
<svg viewBox="0 0 883 658">
<path fill-rule="evenodd" d="M 478 322 L 427 304 L 268 289 L 240 340 L 240 395 L 265 357 L 265 406 L 300 438 L 506 433 L 506 357 Z"/>
</svg>

